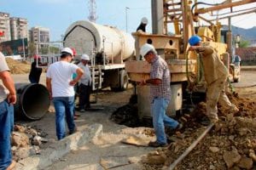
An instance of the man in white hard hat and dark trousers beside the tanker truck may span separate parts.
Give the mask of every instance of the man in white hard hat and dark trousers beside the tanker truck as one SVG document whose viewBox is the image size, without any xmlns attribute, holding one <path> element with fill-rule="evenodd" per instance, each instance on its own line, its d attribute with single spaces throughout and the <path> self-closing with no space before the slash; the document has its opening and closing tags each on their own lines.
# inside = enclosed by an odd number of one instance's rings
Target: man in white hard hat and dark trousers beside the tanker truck
<svg viewBox="0 0 256 170">
<path fill-rule="evenodd" d="M 84 112 L 90 108 L 90 57 L 87 54 L 81 56 L 79 67 L 84 71 L 83 77 L 79 81 L 79 111 Z"/>
</svg>

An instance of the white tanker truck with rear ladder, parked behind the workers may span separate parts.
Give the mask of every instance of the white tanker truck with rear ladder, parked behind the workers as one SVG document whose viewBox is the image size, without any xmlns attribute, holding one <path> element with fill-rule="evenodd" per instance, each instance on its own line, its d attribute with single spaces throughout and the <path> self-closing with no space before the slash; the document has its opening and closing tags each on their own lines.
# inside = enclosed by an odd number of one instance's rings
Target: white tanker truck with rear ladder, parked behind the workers
<svg viewBox="0 0 256 170">
<path fill-rule="evenodd" d="M 87 20 L 74 22 L 63 38 L 64 47 L 75 48 L 76 59 L 90 56 L 92 90 L 110 87 L 125 90 L 129 77 L 125 61 L 135 55 L 135 40 L 113 26 L 101 26 Z"/>
</svg>

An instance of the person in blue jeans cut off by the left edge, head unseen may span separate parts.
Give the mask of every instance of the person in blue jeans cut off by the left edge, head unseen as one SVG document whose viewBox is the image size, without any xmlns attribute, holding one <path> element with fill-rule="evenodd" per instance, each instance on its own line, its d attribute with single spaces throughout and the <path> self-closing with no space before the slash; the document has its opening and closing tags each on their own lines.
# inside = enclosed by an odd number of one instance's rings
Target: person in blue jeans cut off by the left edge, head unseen
<svg viewBox="0 0 256 170">
<path fill-rule="evenodd" d="M 14 105 L 16 103 L 15 83 L 10 76 L 5 57 L 0 52 L 0 79 L 9 90 L 7 94 L 0 85 L 0 169 L 13 169 L 10 135 L 14 126 Z"/>
</svg>

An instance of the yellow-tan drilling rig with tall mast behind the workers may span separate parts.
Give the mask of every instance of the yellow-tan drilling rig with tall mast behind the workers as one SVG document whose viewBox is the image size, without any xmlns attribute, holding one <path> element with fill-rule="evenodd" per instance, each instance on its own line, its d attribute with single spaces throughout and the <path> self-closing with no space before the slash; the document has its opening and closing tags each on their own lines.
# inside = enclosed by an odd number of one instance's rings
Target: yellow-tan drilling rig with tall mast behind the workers
<svg viewBox="0 0 256 170">
<path fill-rule="evenodd" d="M 140 60 L 140 47 L 148 42 L 154 45 L 157 53 L 166 60 L 171 71 L 172 99 L 167 108 L 167 115 L 173 116 L 176 111 L 181 111 L 183 105 L 183 93 L 188 91 L 188 85 L 204 86 L 201 62 L 199 56 L 193 52 L 188 53 L 188 40 L 197 34 L 202 42 L 217 49 L 218 56 L 223 59 L 224 64 L 230 69 L 230 54 L 232 37 L 231 31 L 224 35 L 226 43 L 221 40 L 221 23 L 218 19 L 207 20 L 203 14 L 212 13 L 221 9 L 230 9 L 226 16 L 231 18 L 236 15 L 255 12 L 244 9 L 243 13 L 237 14 L 234 7 L 255 3 L 256 0 L 244 0 L 232 2 L 224 1 L 218 4 L 208 4 L 189 0 L 152 0 L 152 34 L 135 32 L 136 59 L 125 62 L 125 70 L 129 73 L 132 82 L 140 82 L 149 78 L 150 65 L 145 60 Z M 211 5 L 208 8 L 198 8 L 201 5 Z M 223 17 L 224 18 L 224 17 Z M 196 23 L 204 21 L 208 26 L 195 26 Z M 230 22 L 229 22 L 230 24 Z M 168 28 L 174 27 L 175 33 L 170 35 Z M 239 73 L 239 72 L 237 72 Z M 196 88 L 194 88 L 196 89 Z M 149 87 L 135 86 L 137 93 L 138 115 L 140 118 L 150 117 Z"/>
</svg>

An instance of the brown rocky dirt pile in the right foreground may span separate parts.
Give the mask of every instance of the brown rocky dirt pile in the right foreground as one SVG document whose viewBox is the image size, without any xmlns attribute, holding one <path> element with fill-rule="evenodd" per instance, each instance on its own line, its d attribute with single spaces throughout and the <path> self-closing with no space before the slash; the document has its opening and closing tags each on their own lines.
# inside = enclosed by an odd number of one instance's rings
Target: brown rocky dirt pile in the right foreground
<svg viewBox="0 0 256 170">
<path fill-rule="evenodd" d="M 253 169 L 256 168 L 256 105 L 255 98 L 248 99 L 229 94 L 239 112 L 229 114 L 219 108 L 219 122 L 212 131 L 181 161 L 176 169 Z M 163 169 L 186 150 L 206 129 L 203 122 L 206 104 L 200 103 L 189 117 L 183 117 L 183 132 L 168 133 L 172 143 L 143 158 L 144 169 Z"/>
</svg>

